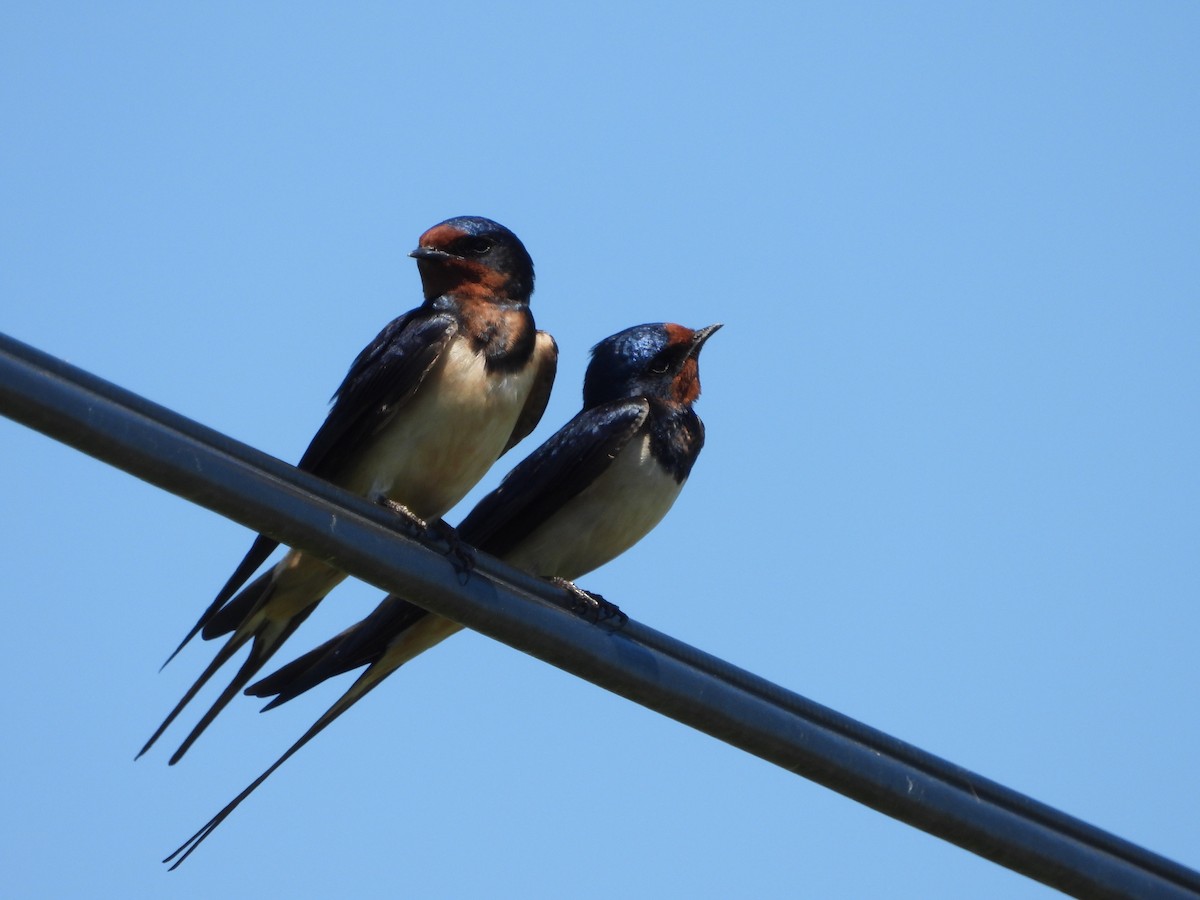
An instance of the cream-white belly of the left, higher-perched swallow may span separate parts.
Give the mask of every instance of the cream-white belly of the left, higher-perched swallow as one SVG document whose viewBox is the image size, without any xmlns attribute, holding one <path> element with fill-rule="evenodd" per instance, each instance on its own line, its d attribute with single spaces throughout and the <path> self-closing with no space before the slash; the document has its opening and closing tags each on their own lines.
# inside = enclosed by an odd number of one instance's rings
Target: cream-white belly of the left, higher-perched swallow
<svg viewBox="0 0 1200 900">
<path fill-rule="evenodd" d="M 484 358 L 455 337 L 343 486 L 384 493 L 421 518 L 445 515 L 504 450 L 534 368 L 490 376 Z"/>
</svg>

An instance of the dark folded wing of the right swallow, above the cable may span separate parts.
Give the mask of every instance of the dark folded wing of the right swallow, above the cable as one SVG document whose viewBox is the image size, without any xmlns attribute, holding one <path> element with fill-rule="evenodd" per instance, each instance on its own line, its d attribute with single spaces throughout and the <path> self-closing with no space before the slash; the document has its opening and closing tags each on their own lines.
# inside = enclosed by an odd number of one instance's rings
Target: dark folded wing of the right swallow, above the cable
<svg viewBox="0 0 1200 900">
<path fill-rule="evenodd" d="M 646 421 L 646 400 L 584 409 L 534 450 L 458 526 L 458 536 L 504 556 L 595 481 Z"/>
</svg>

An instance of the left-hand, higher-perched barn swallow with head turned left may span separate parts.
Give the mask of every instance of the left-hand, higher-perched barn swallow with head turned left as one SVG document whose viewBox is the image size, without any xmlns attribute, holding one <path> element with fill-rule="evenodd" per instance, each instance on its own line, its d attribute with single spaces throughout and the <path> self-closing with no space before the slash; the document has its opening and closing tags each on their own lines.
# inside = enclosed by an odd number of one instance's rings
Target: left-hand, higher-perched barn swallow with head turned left
<svg viewBox="0 0 1200 900">
<path fill-rule="evenodd" d="M 440 520 L 524 438 L 550 398 L 558 348 L 534 328 L 533 260 L 487 218 L 450 218 L 421 235 L 425 302 L 391 322 L 354 360 L 299 468 L 390 505 L 419 526 Z M 230 656 L 252 641 L 229 686 L 170 757 L 182 757 L 346 574 L 292 550 L 242 588 L 278 541 L 259 535 L 175 649 L 197 634 L 230 635 L 138 754 Z M 241 589 L 240 593 L 239 589 Z M 167 660 L 170 661 L 170 658 Z"/>
</svg>

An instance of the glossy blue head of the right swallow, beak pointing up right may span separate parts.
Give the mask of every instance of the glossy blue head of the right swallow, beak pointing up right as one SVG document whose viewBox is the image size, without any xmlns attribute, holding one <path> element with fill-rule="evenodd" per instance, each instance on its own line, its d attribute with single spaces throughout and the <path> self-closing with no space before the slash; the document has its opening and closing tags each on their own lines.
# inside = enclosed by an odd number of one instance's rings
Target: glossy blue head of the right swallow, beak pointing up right
<svg viewBox="0 0 1200 900">
<path fill-rule="evenodd" d="M 592 348 L 583 378 L 583 407 L 630 397 L 690 406 L 700 396 L 701 348 L 720 325 L 692 331 L 655 323 L 618 331 Z"/>
</svg>

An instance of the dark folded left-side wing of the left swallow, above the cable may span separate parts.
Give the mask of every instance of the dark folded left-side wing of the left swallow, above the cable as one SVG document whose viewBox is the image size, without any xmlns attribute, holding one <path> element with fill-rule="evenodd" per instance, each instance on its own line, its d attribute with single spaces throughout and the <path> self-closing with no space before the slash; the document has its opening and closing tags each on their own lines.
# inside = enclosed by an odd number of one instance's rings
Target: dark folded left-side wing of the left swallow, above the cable
<svg viewBox="0 0 1200 900">
<path fill-rule="evenodd" d="M 389 323 L 354 360 L 299 468 L 336 480 L 361 443 L 416 392 L 457 330 L 452 317 L 425 306 Z"/>
</svg>

